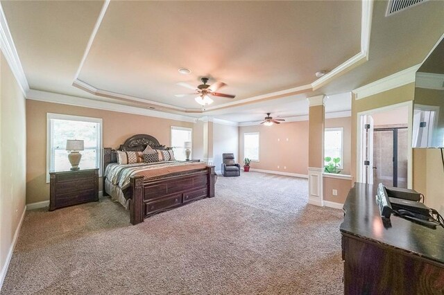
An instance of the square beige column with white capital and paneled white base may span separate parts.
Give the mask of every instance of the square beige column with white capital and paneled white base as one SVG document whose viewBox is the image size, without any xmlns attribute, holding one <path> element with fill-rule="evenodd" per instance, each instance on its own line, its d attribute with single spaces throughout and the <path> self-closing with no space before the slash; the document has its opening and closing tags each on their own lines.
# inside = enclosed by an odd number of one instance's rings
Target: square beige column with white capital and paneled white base
<svg viewBox="0 0 444 295">
<path fill-rule="evenodd" d="M 324 101 L 325 96 L 307 98 L 309 102 L 308 135 L 308 190 L 309 204 L 323 204 L 324 166 Z"/>
</svg>

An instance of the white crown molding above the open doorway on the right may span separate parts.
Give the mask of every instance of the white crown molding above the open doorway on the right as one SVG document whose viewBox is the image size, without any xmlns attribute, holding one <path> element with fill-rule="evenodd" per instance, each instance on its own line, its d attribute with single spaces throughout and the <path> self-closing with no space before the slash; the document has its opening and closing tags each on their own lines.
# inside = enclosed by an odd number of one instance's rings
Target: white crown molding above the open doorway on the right
<svg viewBox="0 0 444 295">
<path fill-rule="evenodd" d="M 381 93 L 393 88 L 401 87 L 405 84 L 415 82 L 416 71 L 418 71 L 420 64 L 411 66 L 408 69 L 394 73 L 393 75 L 388 75 L 385 78 L 379 79 L 370 84 L 366 84 L 363 87 L 354 89 L 352 92 L 355 93 L 355 99 L 359 100 L 366 98 L 368 96 L 373 96 L 377 93 Z"/>
</svg>

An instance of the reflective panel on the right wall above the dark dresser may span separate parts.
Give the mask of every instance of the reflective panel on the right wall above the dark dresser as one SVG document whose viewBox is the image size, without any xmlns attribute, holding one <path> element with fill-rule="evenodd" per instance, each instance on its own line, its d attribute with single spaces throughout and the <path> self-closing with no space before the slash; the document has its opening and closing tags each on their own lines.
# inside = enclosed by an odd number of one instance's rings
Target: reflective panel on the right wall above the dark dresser
<svg viewBox="0 0 444 295">
<path fill-rule="evenodd" d="M 416 72 L 412 147 L 444 147 L 444 40 Z"/>
</svg>

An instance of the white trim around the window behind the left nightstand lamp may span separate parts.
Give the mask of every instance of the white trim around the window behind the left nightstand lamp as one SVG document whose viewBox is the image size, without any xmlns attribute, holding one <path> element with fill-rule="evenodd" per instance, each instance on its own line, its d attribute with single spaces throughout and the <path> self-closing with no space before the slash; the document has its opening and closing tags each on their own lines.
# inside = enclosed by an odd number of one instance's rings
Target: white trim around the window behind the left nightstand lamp
<svg viewBox="0 0 444 295">
<path fill-rule="evenodd" d="M 72 116 L 66 114 L 54 114 L 46 113 L 46 184 L 49 184 L 49 170 L 51 167 L 51 119 L 56 120 L 71 120 L 71 121 L 81 121 L 81 122 L 92 122 L 99 123 L 99 177 L 102 177 L 102 166 L 103 166 L 103 120 L 101 118 L 83 117 L 83 116 Z"/>
</svg>

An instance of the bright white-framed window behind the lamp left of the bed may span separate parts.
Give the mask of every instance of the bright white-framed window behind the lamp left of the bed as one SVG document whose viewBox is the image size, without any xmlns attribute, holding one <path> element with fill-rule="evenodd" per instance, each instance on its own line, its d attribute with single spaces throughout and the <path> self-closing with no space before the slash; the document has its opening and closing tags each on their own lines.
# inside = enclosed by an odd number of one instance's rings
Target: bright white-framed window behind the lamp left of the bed
<svg viewBox="0 0 444 295">
<path fill-rule="evenodd" d="M 49 170 L 71 168 L 65 150 L 67 139 L 84 141 L 80 168 L 100 168 L 101 175 L 102 119 L 48 113 L 46 126 L 46 182 L 49 182 Z"/>
</svg>

